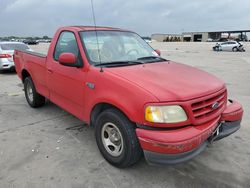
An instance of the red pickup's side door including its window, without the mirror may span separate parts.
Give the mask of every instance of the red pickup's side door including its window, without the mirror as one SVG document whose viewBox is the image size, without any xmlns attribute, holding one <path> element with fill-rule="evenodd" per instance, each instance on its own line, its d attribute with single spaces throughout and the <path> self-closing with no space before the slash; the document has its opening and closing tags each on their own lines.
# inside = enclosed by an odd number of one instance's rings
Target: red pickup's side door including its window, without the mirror
<svg viewBox="0 0 250 188">
<path fill-rule="evenodd" d="M 50 100 L 81 118 L 84 98 L 84 72 L 82 68 L 68 67 L 58 62 L 61 53 L 73 53 L 77 57 L 77 64 L 82 58 L 73 32 L 63 31 L 57 41 L 54 55 L 48 63 L 48 87 Z"/>
</svg>

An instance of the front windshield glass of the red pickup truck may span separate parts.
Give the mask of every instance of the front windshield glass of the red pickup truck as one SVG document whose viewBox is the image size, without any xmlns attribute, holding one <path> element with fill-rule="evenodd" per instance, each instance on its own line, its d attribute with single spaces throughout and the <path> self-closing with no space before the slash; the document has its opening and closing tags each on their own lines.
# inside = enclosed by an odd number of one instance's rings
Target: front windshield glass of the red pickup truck
<svg viewBox="0 0 250 188">
<path fill-rule="evenodd" d="M 90 63 L 94 65 L 100 62 L 108 64 L 136 61 L 143 57 L 158 57 L 140 36 L 132 32 L 83 31 L 80 35 Z"/>
</svg>

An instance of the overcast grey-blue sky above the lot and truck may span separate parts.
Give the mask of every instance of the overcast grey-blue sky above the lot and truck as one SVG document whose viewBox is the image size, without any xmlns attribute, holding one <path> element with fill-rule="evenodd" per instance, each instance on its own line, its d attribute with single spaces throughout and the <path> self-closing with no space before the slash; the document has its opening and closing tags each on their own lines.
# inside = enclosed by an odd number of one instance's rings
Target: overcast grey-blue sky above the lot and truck
<svg viewBox="0 0 250 188">
<path fill-rule="evenodd" d="M 97 25 L 141 35 L 250 29 L 248 0 L 93 0 Z M 93 25 L 91 0 L 0 0 L 0 36 L 53 36 Z"/>
</svg>

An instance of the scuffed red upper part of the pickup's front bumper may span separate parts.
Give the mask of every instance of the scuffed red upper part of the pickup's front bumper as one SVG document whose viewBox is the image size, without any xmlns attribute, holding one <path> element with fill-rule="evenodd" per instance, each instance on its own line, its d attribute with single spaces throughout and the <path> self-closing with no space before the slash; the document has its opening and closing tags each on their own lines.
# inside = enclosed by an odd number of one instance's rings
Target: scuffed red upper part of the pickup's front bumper
<svg viewBox="0 0 250 188">
<path fill-rule="evenodd" d="M 193 150 L 211 136 L 221 121 L 238 121 L 243 116 L 242 106 L 233 101 L 221 117 L 197 126 L 187 126 L 176 130 L 155 131 L 136 129 L 136 134 L 144 150 L 157 153 L 176 154 Z"/>
</svg>

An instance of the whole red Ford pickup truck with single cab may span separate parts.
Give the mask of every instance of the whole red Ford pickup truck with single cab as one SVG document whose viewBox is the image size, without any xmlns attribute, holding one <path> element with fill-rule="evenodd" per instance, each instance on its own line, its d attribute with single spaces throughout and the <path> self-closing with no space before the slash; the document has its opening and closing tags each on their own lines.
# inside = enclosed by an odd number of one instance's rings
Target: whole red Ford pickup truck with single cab
<svg viewBox="0 0 250 188">
<path fill-rule="evenodd" d="M 184 162 L 240 128 L 242 106 L 224 82 L 160 57 L 131 31 L 63 27 L 48 55 L 16 50 L 14 62 L 28 104 L 48 99 L 93 126 L 101 154 L 120 168 L 143 154 Z"/>
</svg>

